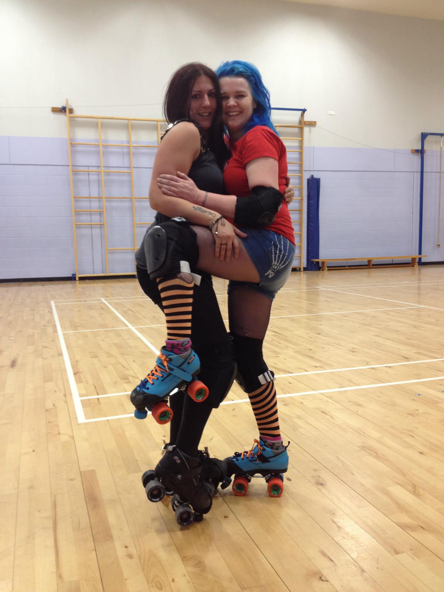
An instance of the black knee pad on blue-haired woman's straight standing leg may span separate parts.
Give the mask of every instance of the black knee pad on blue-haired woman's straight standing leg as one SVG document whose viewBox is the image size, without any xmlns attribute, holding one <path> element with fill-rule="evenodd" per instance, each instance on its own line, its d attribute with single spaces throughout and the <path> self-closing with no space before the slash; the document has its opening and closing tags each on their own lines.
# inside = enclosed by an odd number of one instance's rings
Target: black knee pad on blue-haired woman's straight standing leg
<svg viewBox="0 0 444 592">
<path fill-rule="evenodd" d="M 253 339 L 231 333 L 236 349 L 236 382 L 244 392 L 258 390 L 274 380 L 274 372 L 266 365 L 262 355 L 263 339 Z"/>
</svg>

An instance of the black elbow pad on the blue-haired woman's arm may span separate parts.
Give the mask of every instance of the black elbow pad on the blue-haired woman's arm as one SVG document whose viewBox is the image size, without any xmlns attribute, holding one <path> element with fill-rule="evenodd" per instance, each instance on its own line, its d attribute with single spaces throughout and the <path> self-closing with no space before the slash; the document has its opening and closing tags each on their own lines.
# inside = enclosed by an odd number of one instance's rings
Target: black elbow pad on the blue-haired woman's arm
<svg viewBox="0 0 444 592">
<path fill-rule="evenodd" d="M 271 224 L 282 205 L 284 195 L 274 187 L 258 185 L 247 197 L 238 197 L 234 223 L 249 228 L 263 228 Z"/>
</svg>

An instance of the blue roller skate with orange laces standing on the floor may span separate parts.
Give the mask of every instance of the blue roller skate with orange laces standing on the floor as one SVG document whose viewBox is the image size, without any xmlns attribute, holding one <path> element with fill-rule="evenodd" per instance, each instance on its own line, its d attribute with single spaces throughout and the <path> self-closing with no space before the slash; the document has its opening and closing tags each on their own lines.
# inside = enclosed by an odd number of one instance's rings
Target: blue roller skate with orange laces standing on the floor
<svg viewBox="0 0 444 592">
<path fill-rule="evenodd" d="M 288 442 L 289 444 L 289 442 Z M 225 459 L 228 474 L 234 475 L 233 493 L 245 496 L 248 484 L 255 475 L 265 477 L 270 497 L 281 497 L 284 492 L 284 475 L 288 469 L 287 446 L 274 450 L 265 446 L 262 438 L 255 440 L 249 451 L 235 452 Z"/>
</svg>

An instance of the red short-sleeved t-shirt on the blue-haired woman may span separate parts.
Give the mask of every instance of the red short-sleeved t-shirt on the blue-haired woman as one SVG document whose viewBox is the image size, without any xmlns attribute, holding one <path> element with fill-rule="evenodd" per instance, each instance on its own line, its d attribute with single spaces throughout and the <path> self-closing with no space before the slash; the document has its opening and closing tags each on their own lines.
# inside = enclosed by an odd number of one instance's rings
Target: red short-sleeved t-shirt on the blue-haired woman
<svg viewBox="0 0 444 592">
<path fill-rule="evenodd" d="M 266 126 L 255 126 L 246 134 L 230 144 L 231 158 L 224 170 L 224 184 L 228 195 L 247 196 L 251 194 L 245 166 L 250 160 L 269 156 L 278 161 L 279 191 L 284 193 L 287 185 L 287 150 L 282 140 Z M 231 220 L 230 220 L 231 222 Z M 266 229 L 282 234 L 294 244 L 294 230 L 288 206 L 285 201 L 276 218 Z"/>
</svg>

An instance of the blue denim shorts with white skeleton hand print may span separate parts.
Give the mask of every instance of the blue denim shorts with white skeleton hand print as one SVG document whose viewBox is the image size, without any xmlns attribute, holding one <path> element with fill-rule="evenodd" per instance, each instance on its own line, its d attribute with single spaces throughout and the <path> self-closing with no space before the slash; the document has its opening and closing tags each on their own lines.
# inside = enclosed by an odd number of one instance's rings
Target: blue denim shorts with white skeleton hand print
<svg viewBox="0 0 444 592">
<path fill-rule="evenodd" d="M 294 260 L 295 246 L 282 234 L 273 230 L 239 228 L 246 238 L 242 240 L 256 271 L 259 274 L 259 284 L 253 282 L 237 282 L 230 280 L 228 291 L 236 287 L 248 287 L 262 292 L 270 300 L 274 300 L 276 293 L 282 288 L 290 275 Z"/>
</svg>

